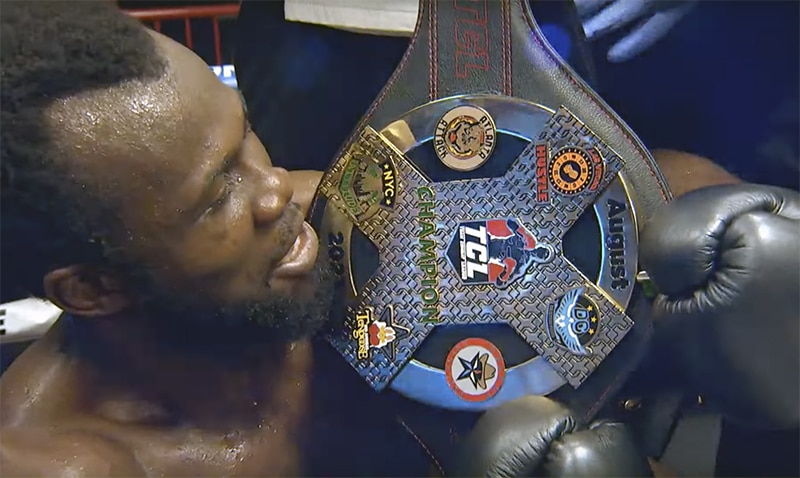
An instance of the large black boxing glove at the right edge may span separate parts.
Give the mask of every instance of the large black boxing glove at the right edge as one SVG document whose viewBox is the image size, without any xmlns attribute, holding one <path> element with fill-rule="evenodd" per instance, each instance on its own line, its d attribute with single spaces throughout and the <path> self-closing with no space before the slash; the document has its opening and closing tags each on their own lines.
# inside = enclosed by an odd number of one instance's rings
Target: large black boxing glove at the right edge
<svg viewBox="0 0 800 478">
<path fill-rule="evenodd" d="M 729 419 L 798 425 L 800 198 L 755 184 L 689 192 L 644 226 L 656 334 Z"/>
</svg>

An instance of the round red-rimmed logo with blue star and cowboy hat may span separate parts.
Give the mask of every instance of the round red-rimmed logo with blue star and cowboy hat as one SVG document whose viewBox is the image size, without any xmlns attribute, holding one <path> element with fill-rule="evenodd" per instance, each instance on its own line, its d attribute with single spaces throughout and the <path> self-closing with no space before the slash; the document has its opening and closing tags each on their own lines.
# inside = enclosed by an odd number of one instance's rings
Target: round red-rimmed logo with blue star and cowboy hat
<svg viewBox="0 0 800 478">
<path fill-rule="evenodd" d="M 492 398 L 506 376 L 500 350 L 491 342 L 469 338 L 457 343 L 447 354 L 445 374 L 450 388 L 468 402 Z"/>
</svg>

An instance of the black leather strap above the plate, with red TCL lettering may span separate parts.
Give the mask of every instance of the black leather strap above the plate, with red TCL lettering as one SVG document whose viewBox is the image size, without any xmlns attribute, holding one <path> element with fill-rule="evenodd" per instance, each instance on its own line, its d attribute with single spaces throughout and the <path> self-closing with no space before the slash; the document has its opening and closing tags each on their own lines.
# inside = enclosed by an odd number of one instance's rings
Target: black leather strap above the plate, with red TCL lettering
<svg viewBox="0 0 800 478">
<path fill-rule="evenodd" d="M 411 45 L 356 132 L 366 124 L 380 130 L 438 98 L 488 92 L 567 107 L 626 160 L 631 186 L 642 192 L 640 217 L 670 199 L 641 141 L 547 44 L 527 0 L 422 0 Z"/>
</svg>

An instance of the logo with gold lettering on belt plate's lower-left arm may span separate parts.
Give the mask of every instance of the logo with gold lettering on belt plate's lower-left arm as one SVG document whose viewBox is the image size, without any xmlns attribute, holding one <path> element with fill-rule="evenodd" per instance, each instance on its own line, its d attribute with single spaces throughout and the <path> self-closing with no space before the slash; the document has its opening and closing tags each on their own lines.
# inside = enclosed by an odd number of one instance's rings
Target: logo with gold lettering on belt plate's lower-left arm
<svg viewBox="0 0 800 478">
<path fill-rule="evenodd" d="M 359 360 L 371 359 L 373 350 L 380 350 L 394 360 L 397 342 L 410 332 L 407 328 L 394 324 L 394 309 L 391 306 L 386 307 L 377 319 L 373 307 L 361 307 L 354 319 L 352 334 L 357 343 L 356 354 Z"/>
</svg>

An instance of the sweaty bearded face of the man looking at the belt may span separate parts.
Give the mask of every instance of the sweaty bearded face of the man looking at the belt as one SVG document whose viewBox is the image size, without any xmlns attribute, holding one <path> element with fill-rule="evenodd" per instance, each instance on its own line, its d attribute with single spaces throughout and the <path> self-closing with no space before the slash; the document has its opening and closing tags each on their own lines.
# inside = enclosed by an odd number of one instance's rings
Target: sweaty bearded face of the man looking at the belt
<svg viewBox="0 0 800 478">
<path fill-rule="evenodd" d="M 303 221 L 308 180 L 272 166 L 238 92 L 153 36 L 169 62 L 164 79 L 51 108 L 74 179 L 109 198 L 125 230 L 107 240 L 144 278 L 138 293 L 158 322 L 309 332 L 330 288 Z"/>
</svg>

